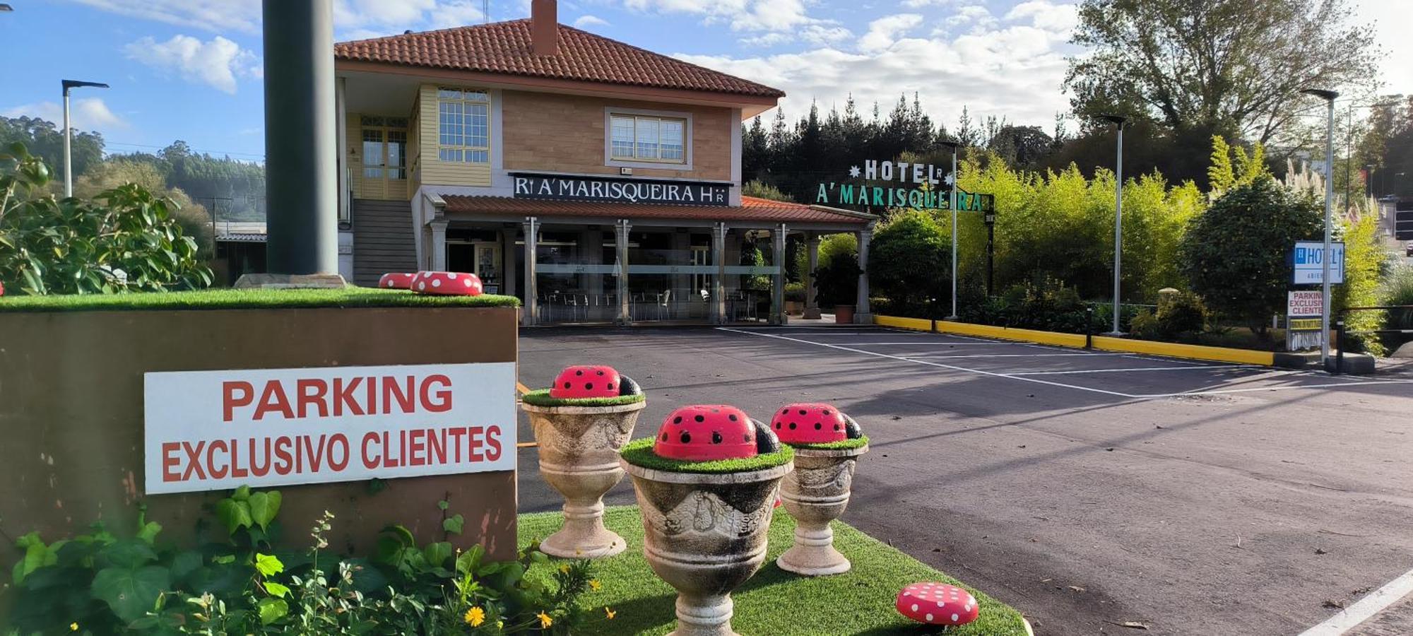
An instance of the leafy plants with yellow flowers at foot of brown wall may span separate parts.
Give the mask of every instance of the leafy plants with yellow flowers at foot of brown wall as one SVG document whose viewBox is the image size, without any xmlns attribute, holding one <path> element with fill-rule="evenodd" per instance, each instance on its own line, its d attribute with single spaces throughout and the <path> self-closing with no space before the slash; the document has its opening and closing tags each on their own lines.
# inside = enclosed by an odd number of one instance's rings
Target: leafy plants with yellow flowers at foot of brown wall
<svg viewBox="0 0 1413 636">
<path fill-rule="evenodd" d="M 158 541 L 140 517 L 131 536 L 95 523 L 92 531 L 45 544 L 17 541 L 13 572 L 18 633 L 569 633 L 588 620 L 579 598 L 596 588 L 586 560 L 551 565 L 531 544 L 514 561 L 485 563 L 475 546 L 417 546 L 389 526 L 369 557 L 331 558 L 325 512 L 312 546 L 281 548 L 278 490 L 236 489 L 215 505 L 226 540 L 194 550 Z M 448 514 L 449 505 L 438 502 Z M 448 514 L 447 536 L 465 520 Z M 531 574 L 552 570 L 552 574 Z"/>
</svg>

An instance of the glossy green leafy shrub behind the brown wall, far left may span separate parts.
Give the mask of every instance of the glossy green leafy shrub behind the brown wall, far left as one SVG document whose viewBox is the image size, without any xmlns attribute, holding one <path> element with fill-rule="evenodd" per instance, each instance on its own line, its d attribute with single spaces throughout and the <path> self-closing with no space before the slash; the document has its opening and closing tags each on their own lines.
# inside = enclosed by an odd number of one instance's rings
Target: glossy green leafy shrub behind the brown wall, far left
<svg viewBox="0 0 1413 636">
<path fill-rule="evenodd" d="M 0 154 L 0 281 L 25 294 L 112 294 L 209 287 L 174 204 L 134 184 L 96 202 L 44 194 L 49 168 L 23 144 Z"/>
</svg>

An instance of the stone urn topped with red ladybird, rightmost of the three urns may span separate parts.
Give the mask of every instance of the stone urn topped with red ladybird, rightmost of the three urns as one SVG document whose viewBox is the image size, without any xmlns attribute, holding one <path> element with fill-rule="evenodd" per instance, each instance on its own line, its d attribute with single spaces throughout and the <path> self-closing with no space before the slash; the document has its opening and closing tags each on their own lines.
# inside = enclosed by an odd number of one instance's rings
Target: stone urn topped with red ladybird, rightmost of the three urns
<svg viewBox="0 0 1413 636">
<path fill-rule="evenodd" d="M 829 522 L 849 505 L 853 468 L 868 452 L 869 438 L 832 404 L 786 406 L 776 411 L 770 430 L 796 452 L 796 469 L 780 486 L 786 512 L 796 519 L 794 544 L 776 565 L 808 577 L 848 572 L 852 565 L 834 548 Z"/>
</svg>

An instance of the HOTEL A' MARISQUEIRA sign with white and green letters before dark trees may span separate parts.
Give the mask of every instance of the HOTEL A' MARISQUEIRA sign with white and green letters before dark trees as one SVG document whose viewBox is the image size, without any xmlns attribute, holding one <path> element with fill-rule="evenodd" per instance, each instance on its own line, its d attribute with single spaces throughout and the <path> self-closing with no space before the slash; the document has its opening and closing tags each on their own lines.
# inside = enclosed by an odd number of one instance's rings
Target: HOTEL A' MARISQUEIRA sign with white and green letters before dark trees
<svg viewBox="0 0 1413 636">
<path fill-rule="evenodd" d="M 820 184 L 817 205 L 852 205 L 868 208 L 951 209 L 951 175 L 931 164 L 876 161 L 849 167 L 849 181 Z M 996 198 L 989 194 L 957 189 L 959 212 L 996 212 Z"/>
</svg>

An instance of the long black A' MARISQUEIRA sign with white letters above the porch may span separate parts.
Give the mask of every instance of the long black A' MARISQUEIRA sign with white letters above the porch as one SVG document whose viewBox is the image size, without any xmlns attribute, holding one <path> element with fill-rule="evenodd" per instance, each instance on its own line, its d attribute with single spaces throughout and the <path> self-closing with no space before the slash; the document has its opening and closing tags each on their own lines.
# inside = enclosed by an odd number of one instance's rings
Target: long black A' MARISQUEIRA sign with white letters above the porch
<svg viewBox="0 0 1413 636">
<path fill-rule="evenodd" d="M 609 204 L 731 205 L 731 184 L 512 172 L 514 198 Z"/>
</svg>

